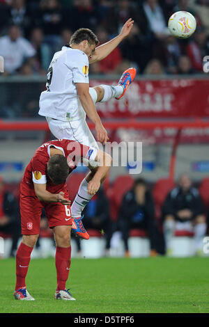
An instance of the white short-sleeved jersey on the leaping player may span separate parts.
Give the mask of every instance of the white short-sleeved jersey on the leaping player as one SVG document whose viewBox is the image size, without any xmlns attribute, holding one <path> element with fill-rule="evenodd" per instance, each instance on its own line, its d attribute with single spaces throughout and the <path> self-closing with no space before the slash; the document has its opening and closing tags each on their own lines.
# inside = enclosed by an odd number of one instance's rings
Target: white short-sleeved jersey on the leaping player
<svg viewBox="0 0 209 327">
<path fill-rule="evenodd" d="M 88 56 L 79 49 L 62 47 L 54 54 L 41 93 L 39 115 L 62 121 L 86 118 L 75 83 L 89 83 Z"/>
</svg>

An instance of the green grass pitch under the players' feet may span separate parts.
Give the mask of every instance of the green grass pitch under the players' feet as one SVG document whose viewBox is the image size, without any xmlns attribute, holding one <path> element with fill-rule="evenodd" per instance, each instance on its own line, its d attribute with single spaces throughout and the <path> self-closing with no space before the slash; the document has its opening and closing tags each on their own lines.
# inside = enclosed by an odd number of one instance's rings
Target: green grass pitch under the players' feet
<svg viewBox="0 0 209 327">
<path fill-rule="evenodd" d="M 56 301 L 54 259 L 37 259 L 26 279 L 36 301 L 15 301 L 15 260 L 0 260 L 0 312 L 209 312 L 208 271 L 203 257 L 72 259 L 77 301 Z"/>
</svg>

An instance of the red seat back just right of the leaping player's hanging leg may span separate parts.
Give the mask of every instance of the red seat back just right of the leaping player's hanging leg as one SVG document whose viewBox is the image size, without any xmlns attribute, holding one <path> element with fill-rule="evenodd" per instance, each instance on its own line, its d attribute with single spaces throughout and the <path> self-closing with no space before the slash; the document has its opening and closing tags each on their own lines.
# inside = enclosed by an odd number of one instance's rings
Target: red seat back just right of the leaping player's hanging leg
<svg viewBox="0 0 209 327">
<path fill-rule="evenodd" d="M 111 187 L 110 194 L 110 212 L 111 218 L 118 218 L 118 210 L 121 205 L 124 194 L 129 191 L 134 184 L 134 180 L 130 175 L 121 175 L 116 177 L 114 184 Z"/>
</svg>

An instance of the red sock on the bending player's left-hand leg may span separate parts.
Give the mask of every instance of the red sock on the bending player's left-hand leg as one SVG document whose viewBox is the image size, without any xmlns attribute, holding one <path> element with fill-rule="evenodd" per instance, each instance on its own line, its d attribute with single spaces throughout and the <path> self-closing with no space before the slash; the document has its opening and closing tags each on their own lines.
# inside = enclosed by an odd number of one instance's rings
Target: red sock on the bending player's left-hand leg
<svg viewBox="0 0 209 327">
<path fill-rule="evenodd" d="M 29 269 L 33 248 L 21 243 L 16 253 L 16 286 L 15 290 L 26 287 L 25 278 Z"/>
</svg>

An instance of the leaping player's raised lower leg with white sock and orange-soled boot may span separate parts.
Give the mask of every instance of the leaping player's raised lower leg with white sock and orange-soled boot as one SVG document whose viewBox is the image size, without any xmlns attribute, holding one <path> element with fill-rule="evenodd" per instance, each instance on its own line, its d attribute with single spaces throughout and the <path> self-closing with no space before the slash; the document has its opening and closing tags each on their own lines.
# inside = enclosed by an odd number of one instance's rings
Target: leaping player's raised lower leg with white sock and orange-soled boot
<svg viewBox="0 0 209 327">
<path fill-rule="evenodd" d="M 127 90 L 127 87 L 132 83 L 136 76 L 137 71 L 135 68 L 131 67 L 125 70 L 118 81 L 118 85 L 99 85 L 89 88 L 89 93 L 93 99 L 94 103 L 106 102 L 112 97 L 116 99 L 121 99 Z"/>
</svg>

